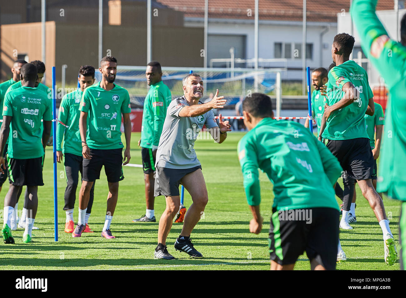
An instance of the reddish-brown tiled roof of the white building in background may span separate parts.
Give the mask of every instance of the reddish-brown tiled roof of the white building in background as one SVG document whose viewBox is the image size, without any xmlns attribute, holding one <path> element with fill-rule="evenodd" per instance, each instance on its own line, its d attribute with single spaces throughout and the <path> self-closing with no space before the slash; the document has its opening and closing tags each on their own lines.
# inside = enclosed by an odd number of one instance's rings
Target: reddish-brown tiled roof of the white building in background
<svg viewBox="0 0 406 298">
<path fill-rule="evenodd" d="M 157 0 L 185 13 L 185 17 L 204 17 L 205 0 Z M 259 0 L 259 19 L 302 21 L 303 0 Z M 327 3 L 327 4 L 326 4 Z M 337 13 L 348 13 L 350 0 L 307 0 L 307 21 L 337 22 Z M 249 16 L 248 9 L 251 9 Z M 393 0 L 379 0 L 378 10 L 393 9 Z M 254 19 L 255 0 L 209 0 L 209 18 Z"/>
</svg>

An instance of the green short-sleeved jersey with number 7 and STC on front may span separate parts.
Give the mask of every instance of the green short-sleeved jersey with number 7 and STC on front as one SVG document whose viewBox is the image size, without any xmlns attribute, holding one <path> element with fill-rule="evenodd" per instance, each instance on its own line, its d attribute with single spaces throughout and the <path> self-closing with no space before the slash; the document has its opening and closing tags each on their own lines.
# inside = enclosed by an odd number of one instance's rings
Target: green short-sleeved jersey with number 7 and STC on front
<svg viewBox="0 0 406 298">
<path fill-rule="evenodd" d="M 110 91 L 100 82 L 87 87 L 82 94 L 80 111 L 89 113 L 86 142 L 93 149 L 123 148 L 121 142 L 121 113 L 130 113 L 130 95 L 123 87 L 114 85 Z"/>
</svg>

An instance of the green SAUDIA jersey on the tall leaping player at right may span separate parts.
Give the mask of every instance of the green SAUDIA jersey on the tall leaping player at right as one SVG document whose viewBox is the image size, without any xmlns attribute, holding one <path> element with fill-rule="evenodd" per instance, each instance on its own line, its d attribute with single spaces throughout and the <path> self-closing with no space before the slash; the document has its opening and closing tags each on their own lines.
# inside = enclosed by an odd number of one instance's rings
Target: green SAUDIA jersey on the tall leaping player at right
<svg viewBox="0 0 406 298">
<path fill-rule="evenodd" d="M 369 87 L 368 75 L 365 69 L 352 60 L 330 69 L 327 82 L 328 98 L 326 98 L 326 101 L 330 107 L 339 102 L 344 97 L 343 86 L 347 82 L 351 82 L 357 88 L 360 98 L 330 114 L 322 134 L 324 139 L 368 138 L 364 115 L 365 111 L 367 111 L 369 99 L 374 95 Z"/>
</svg>

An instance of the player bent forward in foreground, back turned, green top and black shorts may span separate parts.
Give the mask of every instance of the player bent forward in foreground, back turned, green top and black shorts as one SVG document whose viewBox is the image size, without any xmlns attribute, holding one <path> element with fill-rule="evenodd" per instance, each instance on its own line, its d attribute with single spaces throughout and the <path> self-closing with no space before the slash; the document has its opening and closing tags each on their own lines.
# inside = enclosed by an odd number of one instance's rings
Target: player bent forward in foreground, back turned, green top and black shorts
<svg viewBox="0 0 406 298">
<path fill-rule="evenodd" d="M 274 184 L 271 270 L 293 270 L 304 251 L 312 270 L 334 270 L 339 208 L 333 185 L 341 174 L 339 162 L 309 129 L 272 119 L 269 96 L 253 93 L 242 106 L 249 132 L 238 142 L 238 159 L 253 214 L 251 233 L 259 234 L 263 222 L 258 168 Z"/>
</svg>

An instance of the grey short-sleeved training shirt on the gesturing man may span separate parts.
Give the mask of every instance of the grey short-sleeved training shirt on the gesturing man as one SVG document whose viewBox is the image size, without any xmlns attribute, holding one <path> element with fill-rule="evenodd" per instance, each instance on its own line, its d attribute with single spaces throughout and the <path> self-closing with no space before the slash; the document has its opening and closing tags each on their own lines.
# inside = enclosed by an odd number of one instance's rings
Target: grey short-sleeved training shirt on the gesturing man
<svg viewBox="0 0 406 298">
<path fill-rule="evenodd" d="M 194 152 L 194 141 L 204 124 L 207 129 L 218 125 L 212 110 L 197 117 L 179 117 L 180 110 L 186 105 L 189 104 L 184 96 L 169 104 L 156 152 L 155 167 L 190 169 L 201 165 Z"/>
</svg>

